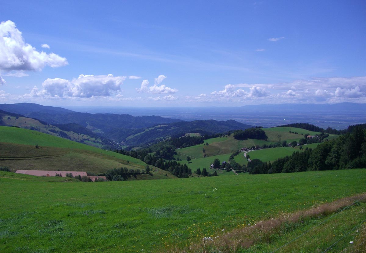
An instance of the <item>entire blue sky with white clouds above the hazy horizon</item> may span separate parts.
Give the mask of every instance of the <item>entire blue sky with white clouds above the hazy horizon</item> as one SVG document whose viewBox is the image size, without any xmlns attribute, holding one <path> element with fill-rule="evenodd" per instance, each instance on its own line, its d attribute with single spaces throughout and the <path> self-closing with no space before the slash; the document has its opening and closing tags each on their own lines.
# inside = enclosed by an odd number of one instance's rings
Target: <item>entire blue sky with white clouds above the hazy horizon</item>
<svg viewBox="0 0 366 253">
<path fill-rule="evenodd" d="M 1 0 L 0 101 L 365 103 L 365 10 L 363 0 Z"/>
</svg>

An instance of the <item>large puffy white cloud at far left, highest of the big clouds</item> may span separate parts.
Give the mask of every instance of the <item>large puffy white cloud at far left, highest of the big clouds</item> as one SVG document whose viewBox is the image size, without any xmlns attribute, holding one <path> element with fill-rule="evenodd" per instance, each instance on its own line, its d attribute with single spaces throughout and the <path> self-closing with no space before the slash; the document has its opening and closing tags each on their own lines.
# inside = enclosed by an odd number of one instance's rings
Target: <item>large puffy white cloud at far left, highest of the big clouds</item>
<svg viewBox="0 0 366 253">
<path fill-rule="evenodd" d="M 67 59 L 55 53 L 38 52 L 25 43 L 14 22 L 0 23 L 0 68 L 2 71 L 41 71 L 46 65 L 55 68 L 67 65 Z"/>
</svg>

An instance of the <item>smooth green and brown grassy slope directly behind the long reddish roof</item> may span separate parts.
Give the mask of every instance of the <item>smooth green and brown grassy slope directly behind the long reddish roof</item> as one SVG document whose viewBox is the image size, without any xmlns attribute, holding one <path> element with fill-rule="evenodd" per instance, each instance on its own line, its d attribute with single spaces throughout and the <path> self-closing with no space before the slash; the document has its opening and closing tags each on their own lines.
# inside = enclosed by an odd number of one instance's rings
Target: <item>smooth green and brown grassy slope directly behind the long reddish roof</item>
<svg viewBox="0 0 366 253">
<path fill-rule="evenodd" d="M 120 167 L 140 170 L 146 167 L 143 161 L 130 156 L 17 127 L 0 126 L 0 141 L 1 166 L 14 171 L 75 170 L 102 173 Z M 155 167 L 154 170 L 160 171 Z"/>
</svg>

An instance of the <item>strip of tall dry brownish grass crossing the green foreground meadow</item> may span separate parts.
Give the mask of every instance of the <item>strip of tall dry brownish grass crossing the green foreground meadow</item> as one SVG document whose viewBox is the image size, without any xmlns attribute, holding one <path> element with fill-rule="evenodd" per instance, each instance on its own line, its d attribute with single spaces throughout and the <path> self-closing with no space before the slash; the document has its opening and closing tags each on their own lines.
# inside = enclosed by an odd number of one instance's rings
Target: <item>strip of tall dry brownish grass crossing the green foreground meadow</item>
<svg viewBox="0 0 366 253">
<path fill-rule="evenodd" d="M 204 239 L 195 241 L 184 249 L 174 248 L 172 252 L 237 252 L 242 248 L 249 248 L 255 243 L 272 241 L 272 235 L 282 233 L 291 224 L 302 222 L 305 219 L 330 215 L 341 211 L 344 208 L 351 206 L 357 202 L 366 202 L 366 193 L 355 195 L 352 197 L 342 198 L 330 203 L 321 204 L 317 207 L 302 210 L 295 213 L 281 213 L 280 216 L 260 221 L 253 226 L 235 228 L 230 232 L 221 234 L 216 238 Z M 366 250 L 366 235 L 365 224 L 363 225 L 363 241 L 356 252 L 365 252 Z M 362 234 L 361 231 L 361 234 Z"/>
</svg>

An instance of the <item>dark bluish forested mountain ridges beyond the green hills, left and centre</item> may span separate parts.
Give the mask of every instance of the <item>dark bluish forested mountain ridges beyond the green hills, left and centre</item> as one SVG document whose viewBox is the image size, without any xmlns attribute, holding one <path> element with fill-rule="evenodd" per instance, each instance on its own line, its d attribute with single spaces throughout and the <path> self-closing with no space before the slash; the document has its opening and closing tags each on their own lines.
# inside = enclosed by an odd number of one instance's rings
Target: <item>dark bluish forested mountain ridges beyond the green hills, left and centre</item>
<svg viewBox="0 0 366 253">
<path fill-rule="evenodd" d="M 39 104 L 0 104 L 2 111 L 24 115 L 74 133 L 99 135 L 123 146 L 143 146 L 186 133 L 215 134 L 253 127 L 235 120 L 195 120 L 186 122 L 161 116 L 131 116 L 128 114 L 90 114 L 61 107 Z"/>
</svg>

